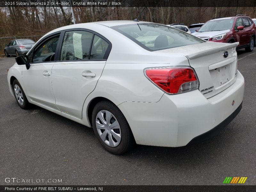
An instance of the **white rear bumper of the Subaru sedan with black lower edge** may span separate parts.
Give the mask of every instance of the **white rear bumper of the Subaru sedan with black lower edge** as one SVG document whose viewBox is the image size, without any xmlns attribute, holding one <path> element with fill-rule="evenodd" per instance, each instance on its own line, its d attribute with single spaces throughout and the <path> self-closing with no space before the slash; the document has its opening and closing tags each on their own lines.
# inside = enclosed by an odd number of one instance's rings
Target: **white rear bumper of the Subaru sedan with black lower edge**
<svg viewBox="0 0 256 192">
<path fill-rule="evenodd" d="M 158 102 L 124 102 L 118 107 L 137 144 L 180 147 L 198 136 L 208 139 L 214 128 L 229 123 L 241 109 L 243 96 L 244 77 L 237 71 L 235 83 L 209 99 L 196 90 L 164 94 Z"/>
</svg>

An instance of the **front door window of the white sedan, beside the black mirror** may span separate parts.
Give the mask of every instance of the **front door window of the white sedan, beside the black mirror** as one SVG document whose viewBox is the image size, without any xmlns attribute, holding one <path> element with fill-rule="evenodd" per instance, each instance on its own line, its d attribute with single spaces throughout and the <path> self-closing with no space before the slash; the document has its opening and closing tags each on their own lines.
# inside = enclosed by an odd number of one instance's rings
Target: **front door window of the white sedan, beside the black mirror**
<svg viewBox="0 0 256 192">
<path fill-rule="evenodd" d="M 41 44 L 38 48 L 35 48 L 36 51 L 31 52 L 31 54 L 33 54 L 32 62 L 42 63 L 42 62 L 53 61 L 59 37 L 60 35 L 49 38 L 43 44 Z"/>
</svg>

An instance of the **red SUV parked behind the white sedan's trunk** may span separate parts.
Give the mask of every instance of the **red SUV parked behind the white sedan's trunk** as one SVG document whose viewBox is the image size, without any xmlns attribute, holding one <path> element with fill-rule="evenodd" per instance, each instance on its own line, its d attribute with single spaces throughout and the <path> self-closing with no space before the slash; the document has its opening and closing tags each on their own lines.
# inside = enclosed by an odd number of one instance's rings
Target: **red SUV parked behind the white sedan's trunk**
<svg viewBox="0 0 256 192">
<path fill-rule="evenodd" d="M 255 46 L 256 26 L 245 14 L 236 17 L 212 18 L 192 35 L 206 41 L 221 43 L 239 42 L 237 49 L 251 52 Z"/>
</svg>

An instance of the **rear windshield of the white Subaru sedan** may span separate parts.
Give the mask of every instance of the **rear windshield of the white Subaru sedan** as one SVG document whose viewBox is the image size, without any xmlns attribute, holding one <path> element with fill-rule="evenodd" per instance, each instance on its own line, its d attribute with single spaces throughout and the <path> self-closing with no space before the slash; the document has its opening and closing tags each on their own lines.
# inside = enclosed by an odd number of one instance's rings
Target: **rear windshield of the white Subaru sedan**
<svg viewBox="0 0 256 192">
<path fill-rule="evenodd" d="M 184 31 L 155 23 L 137 23 L 112 27 L 148 51 L 170 49 L 204 40 Z"/>
</svg>

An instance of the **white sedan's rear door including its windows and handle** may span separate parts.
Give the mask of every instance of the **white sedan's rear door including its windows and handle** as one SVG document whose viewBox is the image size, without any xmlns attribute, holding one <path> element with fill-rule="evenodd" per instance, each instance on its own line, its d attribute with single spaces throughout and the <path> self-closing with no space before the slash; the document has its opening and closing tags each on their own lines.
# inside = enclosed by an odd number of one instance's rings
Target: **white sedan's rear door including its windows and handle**
<svg viewBox="0 0 256 192">
<path fill-rule="evenodd" d="M 110 49 L 110 42 L 92 31 L 65 31 L 59 61 L 52 68 L 52 89 L 61 112 L 82 118 L 84 100 L 94 90 Z"/>
</svg>

